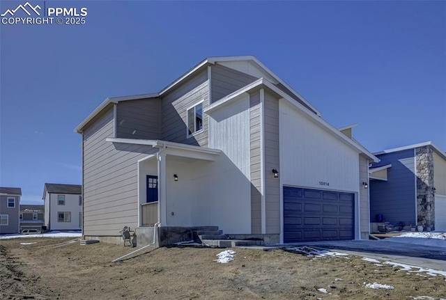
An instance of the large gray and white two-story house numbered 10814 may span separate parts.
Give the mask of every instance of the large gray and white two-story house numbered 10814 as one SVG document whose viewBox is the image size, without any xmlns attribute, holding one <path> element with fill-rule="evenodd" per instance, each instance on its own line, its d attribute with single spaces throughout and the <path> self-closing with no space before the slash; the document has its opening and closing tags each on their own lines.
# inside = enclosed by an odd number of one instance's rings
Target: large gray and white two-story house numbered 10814
<svg viewBox="0 0 446 300">
<path fill-rule="evenodd" d="M 207 58 L 159 93 L 107 98 L 82 134 L 86 239 L 160 244 L 218 226 L 266 244 L 369 237 L 378 159 L 253 56 Z M 121 241 L 122 242 L 122 241 Z M 143 243 L 144 244 L 144 243 Z"/>
</svg>

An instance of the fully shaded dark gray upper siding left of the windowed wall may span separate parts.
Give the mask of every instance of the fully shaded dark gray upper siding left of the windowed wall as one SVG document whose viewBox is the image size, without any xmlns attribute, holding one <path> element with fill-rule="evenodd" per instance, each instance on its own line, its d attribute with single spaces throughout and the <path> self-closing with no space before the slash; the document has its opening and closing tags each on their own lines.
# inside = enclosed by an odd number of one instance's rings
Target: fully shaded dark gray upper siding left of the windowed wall
<svg viewBox="0 0 446 300">
<path fill-rule="evenodd" d="M 148 98 L 116 105 L 116 137 L 161 139 L 161 100 Z"/>
</svg>

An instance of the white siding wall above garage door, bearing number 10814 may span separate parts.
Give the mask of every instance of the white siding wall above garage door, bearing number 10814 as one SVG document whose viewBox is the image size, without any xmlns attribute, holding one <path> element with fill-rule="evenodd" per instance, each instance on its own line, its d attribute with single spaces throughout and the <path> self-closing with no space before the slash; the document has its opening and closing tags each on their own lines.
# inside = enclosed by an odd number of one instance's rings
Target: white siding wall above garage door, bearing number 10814
<svg viewBox="0 0 446 300">
<path fill-rule="evenodd" d="M 282 184 L 359 191 L 359 153 L 283 99 L 279 102 L 279 145 Z"/>
</svg>

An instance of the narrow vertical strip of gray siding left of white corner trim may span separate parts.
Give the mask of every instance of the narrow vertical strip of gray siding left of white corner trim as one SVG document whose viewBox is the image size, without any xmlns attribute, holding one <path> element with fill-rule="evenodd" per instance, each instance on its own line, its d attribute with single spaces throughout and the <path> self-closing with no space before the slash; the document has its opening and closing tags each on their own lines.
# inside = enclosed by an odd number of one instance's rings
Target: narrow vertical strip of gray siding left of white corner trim
<svg viewBox="0 0 446 300">
<path fill-rule="evenodd" d="M 261 153 L 260 153 L 260 93 L 249 98 L 249 136 L 251 144 L 251 232 L 260 234 L 261 224 Z"/>
</svg>

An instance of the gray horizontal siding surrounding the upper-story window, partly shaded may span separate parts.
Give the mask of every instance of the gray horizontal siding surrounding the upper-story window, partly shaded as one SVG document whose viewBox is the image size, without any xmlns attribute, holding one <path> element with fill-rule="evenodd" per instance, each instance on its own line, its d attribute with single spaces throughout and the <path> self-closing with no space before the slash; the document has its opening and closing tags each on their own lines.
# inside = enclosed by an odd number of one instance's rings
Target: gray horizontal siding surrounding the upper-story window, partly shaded
<svg viewBox="0 0 446 300">
<path fill-rule="evenodd" d="M 203 101 L 208 106 L 208 72 L 202 70 L 162 96 L 162 137 L 164 141 L 208 147 L 208 116 L 204 114 L 203 131 L 187 137 L 187 109 Z"/>
</svg>

